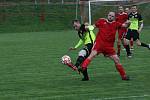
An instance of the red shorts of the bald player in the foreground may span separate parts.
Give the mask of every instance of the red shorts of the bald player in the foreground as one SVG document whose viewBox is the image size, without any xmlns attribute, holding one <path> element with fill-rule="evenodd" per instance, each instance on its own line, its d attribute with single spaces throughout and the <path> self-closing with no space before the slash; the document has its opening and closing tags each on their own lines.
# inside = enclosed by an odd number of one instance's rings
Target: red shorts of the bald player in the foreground
<svg viewBox="0 0 150 100">
<path fill-rule="evenodd" d="M 102 53 L 104 56 L 116 55 L 116 51 L 113 46 L 106 46 L 104 43 L 101 42 L 95 41 L 92 50 L 96 50 L 98 54 Z"/>
</svg>

